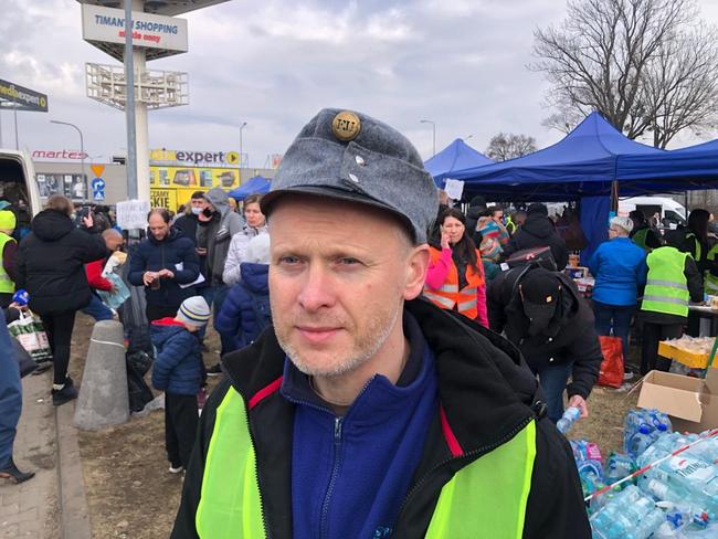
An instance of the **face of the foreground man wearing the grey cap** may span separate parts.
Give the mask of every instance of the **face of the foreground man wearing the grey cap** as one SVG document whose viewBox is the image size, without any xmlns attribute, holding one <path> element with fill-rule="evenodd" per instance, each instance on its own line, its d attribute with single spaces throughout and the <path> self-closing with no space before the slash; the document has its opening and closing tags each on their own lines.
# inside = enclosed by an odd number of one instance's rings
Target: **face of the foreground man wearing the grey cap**
<svg viewBox="0 0 718 539">
<path fill-rule="evenodd" d="M 423 247 L 379 211 L 316 197 L 281 199 L 270 233 L 273 324 L 300 371 L 346 374 L 391 352 L 403 300 L 421 293 Z"/>
</svg>

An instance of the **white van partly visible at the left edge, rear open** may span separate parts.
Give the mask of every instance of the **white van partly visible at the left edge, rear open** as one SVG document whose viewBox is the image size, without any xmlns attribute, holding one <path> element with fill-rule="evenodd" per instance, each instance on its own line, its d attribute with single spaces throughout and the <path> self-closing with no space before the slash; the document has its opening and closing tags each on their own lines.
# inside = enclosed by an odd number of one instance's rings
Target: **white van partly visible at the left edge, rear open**
<svg viewBox="0 0 718 539">
<path fill-rule="evenodd" d="M 28 154 L 0 149 L 0 199 L 10 202 L 18 216 L 18 237 L 24 235 L 32 216 L 42 210 L 35 170 Z"/>
</svg>

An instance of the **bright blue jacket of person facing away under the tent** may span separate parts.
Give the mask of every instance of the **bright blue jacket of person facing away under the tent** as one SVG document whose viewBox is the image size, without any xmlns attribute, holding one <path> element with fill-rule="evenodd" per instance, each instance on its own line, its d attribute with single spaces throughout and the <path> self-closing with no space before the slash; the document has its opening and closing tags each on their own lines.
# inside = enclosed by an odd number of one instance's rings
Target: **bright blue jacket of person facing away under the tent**
<svg viewBox="0 0 718 539">
<path fill-rule="evenodd" d="M 595 277 L 593 300 L 606 305 L 636 305 L 638 287 L 646 284 L 646 253 L 627 237 L 603 242 L 589 262 Z"/>
</svg>

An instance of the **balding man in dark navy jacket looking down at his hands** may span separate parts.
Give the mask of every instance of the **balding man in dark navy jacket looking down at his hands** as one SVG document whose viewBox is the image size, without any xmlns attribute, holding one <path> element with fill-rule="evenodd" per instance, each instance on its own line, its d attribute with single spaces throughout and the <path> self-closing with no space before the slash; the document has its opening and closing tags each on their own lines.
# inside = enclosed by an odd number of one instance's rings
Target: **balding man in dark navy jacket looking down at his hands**
<svg viewBox="0 0 718 539">
<path fill-rule="evenodd" d="M 147 221 L 147 239 L 130 257 L 128 278 L 145 287 L 147 319 L 152 321 L 173 316 L 182 302 L 196 294 L 191 285 L 200 275 L 200 264 L 194 243 L 170 225 L 166 209 L 154 209 Z"/>
</svg>

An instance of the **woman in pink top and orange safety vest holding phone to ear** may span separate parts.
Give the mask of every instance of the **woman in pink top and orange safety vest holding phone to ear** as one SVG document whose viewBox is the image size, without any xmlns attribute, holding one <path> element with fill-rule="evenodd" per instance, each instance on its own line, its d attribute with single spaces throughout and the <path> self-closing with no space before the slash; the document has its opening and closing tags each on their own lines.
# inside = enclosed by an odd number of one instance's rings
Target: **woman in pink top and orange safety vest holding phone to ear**
<svg viewBox="0 0 718 539">
<path fill-rule="evenodd" d="M 461 210 L 448 208 L 439 221 L 441 244 L 430 249 L 424 297 L 488 327 L 484 264 L 466 233 L 466 218 Z"/>
</svg>

